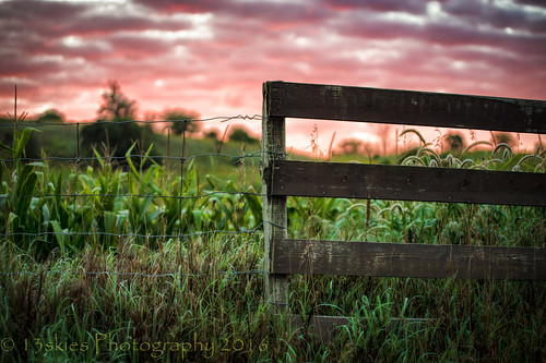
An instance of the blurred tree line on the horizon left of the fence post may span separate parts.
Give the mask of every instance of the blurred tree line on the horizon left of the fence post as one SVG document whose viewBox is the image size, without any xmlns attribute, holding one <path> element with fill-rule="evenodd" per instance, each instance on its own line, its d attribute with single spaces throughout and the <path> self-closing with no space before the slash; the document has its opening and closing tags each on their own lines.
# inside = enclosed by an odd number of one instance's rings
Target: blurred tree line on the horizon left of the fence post
<svg viewBox="0 0 546 363">
<path fill-rule="evenodd" d="M 132 155 L 147 154 L 158 156 L 155 147 L 152 145 L 153 135 L 159 133 L 171 133 L 176 136 L 185 134 L 186 137 L 194 137 L 201 131 L 200 123 L 195 122 L 200 114 L 195 111 L 188 111 L 180 108 L 167 109 L 161 114 L 146 114 L 146 121 L 155 119 L 167 121 L 166 126 L 161 130 L 154 129 L 151 123 L 136 122 L 136 101 L 129 99 L 122 92 L 117 81 L 108 82 L 108 89 L 103 93 L 100 106 L 97 109 L 97 117 L 94 122 L 84 124 L 81 128 L 79 141 L 81 144 L 81 156 L 93 157 L 96 154 L 110 156 L 123 161 L 128 152 Z M 56 109 L 49 109 L 43 113 L 27 118 L 26 113 L 16 117 L 16 120 L 8 114 L 0 118 L 0 123 L 23 123 L 32 126 L 33 123 L 64 123 L 66 117 Z M 114 122 L 109 122 L 114 121 Z M 119 123 L 119 121 L 127 121 Z M 182 122 L 183 121 L 183 122 Z M 13 128 L 0 128 L 0 143 L 12 145 Z M 226 137 L 230 141 L 242 142 L 246 144 L 259 143 L 259 140 L 250 136 L 244 126 L 234 126 L 228 134 L 219 135 L 216 130 L 209 130 L 202 133 L 204 137 L 215 140 L 216 143 L 223 142 Z M 222 141 L 219 138 L 223 138 Z M 33 135 L 29 140 L 25 158 L 39 158 L 40 145 L 39 137 Z M 140 158 L 134 158 L 135 165 L 140 164 Z"/>
</svg>

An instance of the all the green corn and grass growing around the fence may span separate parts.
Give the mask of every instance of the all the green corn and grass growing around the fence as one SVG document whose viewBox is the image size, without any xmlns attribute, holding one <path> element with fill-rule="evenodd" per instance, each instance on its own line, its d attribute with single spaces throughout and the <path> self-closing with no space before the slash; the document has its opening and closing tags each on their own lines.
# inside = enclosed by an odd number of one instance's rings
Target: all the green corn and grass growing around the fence
<svg viewBox="0 0 546 363">
<path fill-rule="evenodd" d="M 188 156 L 215 152 L 198 140 L 187 147 Z M 224 147 L 240 155 L 240 145 Z M 544 153 L 501 149 L 477 158 L 422 149 L 403 161 L 542 171 Z M 292 276 L 292 313 L 351 324 L 324 342 L 268 318 L 258 160 L 1 167 L 1 361 L 546 358 L 544 281 Z M 290 197 L 287 208 L 293 238 L 546 246 L 544 207 Z M 394 317 L 429 324 L 393 331 Z"/>
</svg>

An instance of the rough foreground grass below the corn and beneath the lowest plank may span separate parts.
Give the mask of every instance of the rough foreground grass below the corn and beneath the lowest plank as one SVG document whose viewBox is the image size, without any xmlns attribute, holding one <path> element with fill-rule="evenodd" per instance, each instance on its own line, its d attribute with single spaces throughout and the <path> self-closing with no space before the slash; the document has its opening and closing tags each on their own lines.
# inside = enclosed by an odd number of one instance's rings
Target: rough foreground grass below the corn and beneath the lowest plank
<svg viewBox="0 0 546 363">
<path fill-rule="evenodd" d="M 261 245 L 260 238 L 222 235 L 165 241 L 157 249 L 122 241 L 111 252 L 86 247 L 74 258 L 37 263 L 4 242 L 2 270 L 38 275 L 1 279 L 1 335 L 13 339 L 15 347 L 3 352 L 2 359 L 143 361 L 168 356 L 178 361 L 181 352 L 154 353 L 145 343 L 190 342 L 187 359 L 203 360 L 209 353 L 194 341 L 214 344 L 213 356 L 221 361 L 544 358 L 544 282 L 294 276 L 293 313 L 354 317 L 335 340 L 324 343 L 305 330 L 292 330 L 285 320 L 268 323 L 260 274 L 218 274 L 260 268 Z M 179 278 L 85 271 L 206 275 Z M 387 328 L 392 317 L 426 317 L 431 323 L 422 330 L 396 332 Z M 97 342 L 105 336 L 106 340 Z M 88 349 L 45 351 L 56 339 Z M 116 349 L 123 342 L 141 348 Z"/>
</svg>

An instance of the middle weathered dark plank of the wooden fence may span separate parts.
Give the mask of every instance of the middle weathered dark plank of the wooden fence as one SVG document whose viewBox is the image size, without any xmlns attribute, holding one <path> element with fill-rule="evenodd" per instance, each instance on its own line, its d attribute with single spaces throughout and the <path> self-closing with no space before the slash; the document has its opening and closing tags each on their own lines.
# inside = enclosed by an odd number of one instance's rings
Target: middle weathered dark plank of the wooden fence
<svg viewBox="0 0 546 363">
<path fill-rule="evenodd" d="M 272 195 L 546 206 L 546 174 L 275 161 Z"/>
</svg>

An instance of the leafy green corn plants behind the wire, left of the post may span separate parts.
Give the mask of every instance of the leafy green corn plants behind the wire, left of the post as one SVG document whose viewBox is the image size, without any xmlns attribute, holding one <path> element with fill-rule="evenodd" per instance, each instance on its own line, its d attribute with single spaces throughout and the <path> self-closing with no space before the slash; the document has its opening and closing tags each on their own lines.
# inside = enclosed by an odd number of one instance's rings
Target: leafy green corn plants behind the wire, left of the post
<svg viewBox="0 0 546 363">
<path fill-rule="evenodd" d="M 14 156 L 24 149 L 31 130 L 21 134 Z M 181 178 L 153 160 L 150 148 L 142 162 L 134 162 L 130 157 L 134 147 L 127 150 L 123 169 L 96 150 L 97 166 L 90 165 L 84 172 L 20 164 L 12 177 L 5 173 L 2 180 L 1 232 L 44 259 L 57 249 L 64 253 L 90 243 L 116 246 L 120 234 L 157 245 L 165 234 L 261 228 L 261 198 L 252 186 L 239 190 L 234 181 L 214 176 L 205 176 L 203 185 L 194 160 Z"/>
</svg>

